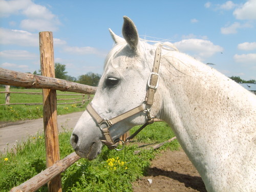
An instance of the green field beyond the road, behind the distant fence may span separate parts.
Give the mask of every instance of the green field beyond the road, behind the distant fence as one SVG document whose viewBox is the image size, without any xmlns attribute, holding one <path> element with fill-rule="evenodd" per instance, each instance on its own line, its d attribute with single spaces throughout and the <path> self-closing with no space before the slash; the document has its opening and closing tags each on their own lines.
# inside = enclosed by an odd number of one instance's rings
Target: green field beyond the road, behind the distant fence
<svg viewBox="0 0 256 192">
<path fill-rule="evenodd" d="M 0 91 L 5 91 L 5 87 L 0 87 Z M 12 92 L 35 92 L 42 93 L 41 89 L 17 89 L 11 88 Z M 76 94 L 72 95 L 59 95 L 59 94 Z M 57 91 L 57 99 L 67 99 L 67 98 L 80 98 L 82 97 L 79 93 L 73 92 L 61 92 Z M 86 95 L 87 99 L 87 95 Z M 74 102 L 79 100 L 59 100 L 57 103 L 64 102 Z M 0 104 L 5 103 L 5 93 L 0 94 Z M 42 103 L 42 95 L 28 95 L 23 93 L 11 93 L 10 103 Z M 86 109 L 86 104 L 81 103 L 76 104 L 58 104 L 57 113 L 58 115 L 68 114 L 72 112 L 84 111 Z M 37 119 L 42 117 L 42 105 L 0 105 L 0 123 L 7 121 L 17 121 L 25 119 Z"/>
</svg>

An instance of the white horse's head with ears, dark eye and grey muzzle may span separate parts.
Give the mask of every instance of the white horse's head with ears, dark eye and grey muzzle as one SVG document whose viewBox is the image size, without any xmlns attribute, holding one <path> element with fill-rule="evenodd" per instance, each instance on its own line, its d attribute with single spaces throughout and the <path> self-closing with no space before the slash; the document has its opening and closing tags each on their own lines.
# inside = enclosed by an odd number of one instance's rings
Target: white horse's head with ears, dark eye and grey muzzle
<svg viewBox="0 0 256 192">
<path fill-rule="evenodd" d="M 145 123 L 148 116 L 156 116 L 160 106 L 160 101 L 154 104 L 145 101 L 151 86 L 148 78 L 157 74 L 151 73 L 156 47 L 139 39 L 136 26 L 126 16 L 122 28 L 124 38 L 111 30 L 110 33 L 115 46 L 106 56 L 95 96 L 71 136 L 76 153 L 89 160 L 100 153 L 102 142 L 108 146 L 115 144 L 133 126 Z M 158 84 L 160 78 L 155 78 Z M 154 97 L 156 84 L 153 88 Z M 159 99 L 155 97 L 155 100 Z"/>
</svg>

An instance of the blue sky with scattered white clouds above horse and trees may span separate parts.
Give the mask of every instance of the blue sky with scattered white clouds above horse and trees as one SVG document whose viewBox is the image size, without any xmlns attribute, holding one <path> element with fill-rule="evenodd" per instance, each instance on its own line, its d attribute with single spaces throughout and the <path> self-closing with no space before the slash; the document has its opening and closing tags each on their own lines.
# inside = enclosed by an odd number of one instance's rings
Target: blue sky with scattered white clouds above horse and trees
<svg viewBox="0 0 256 192">
<path fill-rule="evenodd" d="M 166 40 L 226 76 L 256 79 L 256 0 L 57 1 L 0 0 L 0 67 L 40 69 L 40 31 L 52 31 L 54 59 L 68 75 L 102 74 L 129 16 L 141 38 Z"/>
</svg>

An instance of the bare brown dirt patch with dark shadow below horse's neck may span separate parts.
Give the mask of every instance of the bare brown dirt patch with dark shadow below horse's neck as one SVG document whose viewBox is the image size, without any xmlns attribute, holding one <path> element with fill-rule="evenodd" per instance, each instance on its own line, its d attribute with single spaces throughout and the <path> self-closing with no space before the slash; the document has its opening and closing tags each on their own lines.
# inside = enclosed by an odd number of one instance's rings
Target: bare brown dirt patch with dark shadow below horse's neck
<svg viewBox="0 0 256 192">
<path fill-rule="evenodd" d="M 152 179 L 152 183 L 148 181 Z M 162 152 L 153 161 L 145 177 L 133 183 L 134 192 L 200 191 L 204 183 L 183 150 Z"/>
</svg>

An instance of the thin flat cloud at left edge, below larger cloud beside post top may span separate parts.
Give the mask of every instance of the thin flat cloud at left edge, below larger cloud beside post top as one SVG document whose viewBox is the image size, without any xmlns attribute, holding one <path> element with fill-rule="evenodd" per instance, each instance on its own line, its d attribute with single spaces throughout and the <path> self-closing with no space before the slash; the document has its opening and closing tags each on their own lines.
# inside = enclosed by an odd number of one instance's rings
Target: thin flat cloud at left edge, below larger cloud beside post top
<svg viewBox="0 0 256 192">
<path fill-rule="evenodd" d="M 22 59 L 36 59 L 38 55 L 34 53 L 30 53 L 25 50 L 6 50 L 6 51 L 1 51 L 0 56 L 8 59 L 17 59 L 17 60 L 22 60 Z"/>
</svg>

